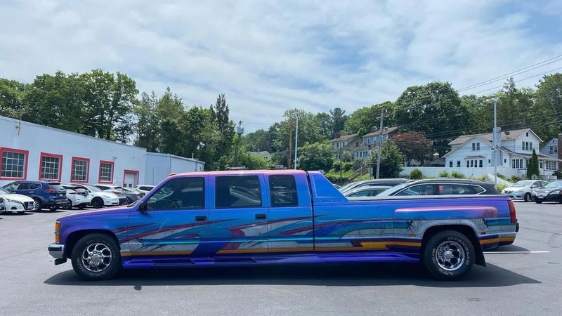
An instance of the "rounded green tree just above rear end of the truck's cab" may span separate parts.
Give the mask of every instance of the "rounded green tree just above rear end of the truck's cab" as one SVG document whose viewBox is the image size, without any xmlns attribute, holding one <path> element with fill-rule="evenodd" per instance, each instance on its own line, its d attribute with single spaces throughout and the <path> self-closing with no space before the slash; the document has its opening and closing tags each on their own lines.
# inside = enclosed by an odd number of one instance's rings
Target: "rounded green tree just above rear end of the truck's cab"
<svg viewBox="0 0 562 316">
<path fill-rule="evenodd" d="M 299 148 L 298 166 L 306 171 L 332 169 L 334 153 L 329 143 L 306 143 Z"/>
</svg>

